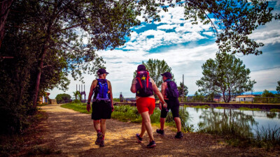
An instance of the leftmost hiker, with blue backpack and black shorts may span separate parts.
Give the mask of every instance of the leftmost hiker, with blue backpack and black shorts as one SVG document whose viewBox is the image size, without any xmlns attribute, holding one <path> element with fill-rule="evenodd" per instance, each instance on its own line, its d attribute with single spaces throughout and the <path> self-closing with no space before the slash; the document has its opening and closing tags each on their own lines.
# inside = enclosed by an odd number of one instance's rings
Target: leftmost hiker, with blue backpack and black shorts
<svg viewBox="0 0 280 157">
<path fill-rule="evenodd" d="M 93 126 L 97 131 L 97 140 L 95 144 L 99 147 L 104 147 L 104 137 L 106 132 L 106 119 L 111 119 L 113 112 L 113 94 L 111 82 L 106 80 L 106 75 L 109 74 L 104 68 L 97 70 L 99 79 L 92 81 L 90 94 L 87 100 L 87 112 L 90 112 L 90 101 L 92 100 L 92 119 Z"/>
</svg>

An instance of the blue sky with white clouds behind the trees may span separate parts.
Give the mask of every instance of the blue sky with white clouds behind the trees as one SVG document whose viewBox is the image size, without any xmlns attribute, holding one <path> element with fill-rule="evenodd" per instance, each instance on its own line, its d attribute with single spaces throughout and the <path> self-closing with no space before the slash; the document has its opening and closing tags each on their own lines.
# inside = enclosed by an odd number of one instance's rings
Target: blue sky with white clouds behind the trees
<svg viewBox="0 0 280 157">
<path fill-rule="evenodd" d="M 270 0 L 269 5 L 274 8 L 274 13 L 280 13 L 280 0 Z M 162 11 L 161 22 L 146 23 L 139 17 L 141 25 L 132 28 L 134 32 L 127 38 L 125 45 L 115 50 L 97 52 L 106 61 L 109 73 L 106 79 L 111 81 L 113 98 L 118 98 L 120 92 L 125 98 L 135 97 L 130 91 L 133 73 L 142 61 L 146 62 L 148 59 L 165 60 L 172 68 L 177 84 L 184 82 L 188 87 L 188 96 L 195 94 L 199 88 L 195 82 L 203 76 L 202 64 L 207 59 L 215 59 L 218 46 L 211 25 L 192 25 L 190 21 L 184 20 L 183 11 L 182 7 L 169 8 L 167 13 Z M 246 68 L 251 70 L 251 80 L 257 82 L 253 91 L 275 91 L 277 81 L 280 80 L 280 21 L 273 20 L 258 27 L 250 38 L 265 44 L 259 49 L 262 54 L 235 54 L 235 57 L 241 59 Z M 95 76 L 83 76 L 83 90 L 85 86 L 88 96 Z M 73 97 L 76 85 L 82 83 L 74 81 L 71 75 L 68 78 L 71 80 L 69 90 L 52 89 L 48 91 L 50 98 L 63 93 Z"/>
</svg>

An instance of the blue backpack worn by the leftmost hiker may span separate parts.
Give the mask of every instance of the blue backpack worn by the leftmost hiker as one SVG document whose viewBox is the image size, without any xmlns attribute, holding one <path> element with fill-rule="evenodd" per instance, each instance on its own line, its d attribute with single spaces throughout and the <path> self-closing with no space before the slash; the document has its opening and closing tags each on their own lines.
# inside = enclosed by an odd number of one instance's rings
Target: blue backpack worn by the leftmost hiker
<svg viewBox="0 0 280 157">
<path fill-rule="evenodd" d="M 97 87 L 94 89 L 95 100 L 111 100 L 110 91 L 106 79 L 97 79 Z"/>
</svg>

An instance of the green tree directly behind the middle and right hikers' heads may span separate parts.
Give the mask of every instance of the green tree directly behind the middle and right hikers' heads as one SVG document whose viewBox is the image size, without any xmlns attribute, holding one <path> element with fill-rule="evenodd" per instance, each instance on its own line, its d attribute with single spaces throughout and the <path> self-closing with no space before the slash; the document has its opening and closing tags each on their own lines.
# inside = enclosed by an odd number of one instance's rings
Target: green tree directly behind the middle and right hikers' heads
<svg viewBox="0 0 280 157">
<path fill-rule="evenodd" d="M 146 63 L 142 62 L 146 69 L 149 71 L 150 76 L 157 84 L 157 87 L 161 87 L 162 85 L 162 73 L 169 72 L 171 73 L 172 68 L 170 68 L 165 60 L 158 59 L 149 59 Z M 172 78 L 174 80 L 174 75 L 172 74 Z"/>
</svg>

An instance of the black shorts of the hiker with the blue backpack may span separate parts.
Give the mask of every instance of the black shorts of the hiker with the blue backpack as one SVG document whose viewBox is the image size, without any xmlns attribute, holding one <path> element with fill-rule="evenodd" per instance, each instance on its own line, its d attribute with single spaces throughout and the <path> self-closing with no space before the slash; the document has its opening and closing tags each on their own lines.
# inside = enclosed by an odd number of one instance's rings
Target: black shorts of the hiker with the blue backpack
<svg viewBox="0 0 280 157">
<path fill-rule="evenodd" d="M 92 119 L 111 119 L 111 102 L 110 101 L 95 101 L 92 103 Z"/>
</svg>

